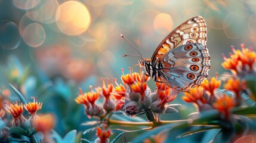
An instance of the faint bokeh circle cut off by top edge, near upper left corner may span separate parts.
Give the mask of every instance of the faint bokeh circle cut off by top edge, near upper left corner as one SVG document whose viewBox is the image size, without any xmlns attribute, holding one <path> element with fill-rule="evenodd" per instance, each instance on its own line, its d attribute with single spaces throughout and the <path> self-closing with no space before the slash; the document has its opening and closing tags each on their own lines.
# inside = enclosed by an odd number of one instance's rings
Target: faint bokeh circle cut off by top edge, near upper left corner
<svg viewBox="0 0 256 143">
<path fill-rule="evenodd" d="M 13 0 L 13 4 L 23 10 L 29 10 L 36 7 L 41 0 Z M 43 0 L 44 1 L 44 0 Z"/>
</svg>

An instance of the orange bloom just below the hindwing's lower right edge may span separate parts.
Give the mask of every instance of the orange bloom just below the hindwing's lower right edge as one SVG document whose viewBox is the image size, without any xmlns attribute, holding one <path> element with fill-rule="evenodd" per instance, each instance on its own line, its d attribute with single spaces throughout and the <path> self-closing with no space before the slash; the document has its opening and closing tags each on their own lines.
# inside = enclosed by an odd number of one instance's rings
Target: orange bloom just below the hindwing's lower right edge
<svg viewBox="0 0 256 143">
<path fill-rule="evenodd" d="M 219 88 L 220 85 L 221 80 L 216 80 L 215 77 L 212 77 L 210 82 L 208 81 L 208 79 L 205 79 L 201 83 L 201 86 L 209 92 L 209 95 L 214 95 L 214 89 Z"/>
</svg>

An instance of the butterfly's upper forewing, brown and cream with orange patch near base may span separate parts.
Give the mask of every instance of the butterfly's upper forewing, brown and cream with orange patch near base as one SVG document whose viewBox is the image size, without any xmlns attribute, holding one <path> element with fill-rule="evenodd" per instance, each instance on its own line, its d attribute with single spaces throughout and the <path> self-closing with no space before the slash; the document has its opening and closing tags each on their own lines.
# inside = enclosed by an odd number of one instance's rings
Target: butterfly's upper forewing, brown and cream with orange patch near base
<svg viewBox="0 0 256 143">
<path fill-rule="evenodd" d="M 152 63 L 171 49 L 186 43 L 201 43 L 206 47 L 206 33 L 205 20 L 201 16 L 190 18 L 169 33 L 159 44 L 152 55 Z"/>
</svg>

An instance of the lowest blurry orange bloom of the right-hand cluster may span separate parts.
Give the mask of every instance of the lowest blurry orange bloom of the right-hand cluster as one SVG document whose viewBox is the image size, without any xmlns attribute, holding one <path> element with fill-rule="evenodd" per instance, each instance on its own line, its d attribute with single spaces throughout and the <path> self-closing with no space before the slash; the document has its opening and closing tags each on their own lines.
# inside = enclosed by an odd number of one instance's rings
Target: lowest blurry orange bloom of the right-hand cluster
<svg viewBox="0 0 256 143">
<path fill-rule="evenodd" d="M 212 107 L 216 108 L 223 114 L 224 119 L 229 120 L 230 117 L 230 109 L 235 107 L 236 102 L 233 97 L 227 96 L 223 94 L 223 96 L 218 97 L 214 103 L 212 103 Z"/>
</svg>

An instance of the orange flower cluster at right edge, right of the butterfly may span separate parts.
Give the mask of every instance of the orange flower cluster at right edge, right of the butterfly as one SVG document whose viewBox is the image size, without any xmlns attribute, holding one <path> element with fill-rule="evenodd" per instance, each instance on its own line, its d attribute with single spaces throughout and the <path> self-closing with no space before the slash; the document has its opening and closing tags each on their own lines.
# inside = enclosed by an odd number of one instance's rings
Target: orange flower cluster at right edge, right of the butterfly
<svg viewBox="0 0 256 143">
<path fill-rule="evenodd" d="M 226 78 L 224 90 L 218 89 L 221 86 L 221 80 L 212 77 L 210 81 L 203 80 L 198 88 L 186 92 L 185 97 L 182 97 L 183 100 L 195 103 L 199 111 L 215 108 L 223 115 L 223 119 L 230 119 L 230 109 L 242 104 L 242 94 L 247 89 L 244 77 L 255 73 L 256 53 L 252 49 L 245 48 L 243 44 L 241 48 L 241 51 L 235 50 L 232 46 L 233 54 L 230 58 L 223 56 L 222 66 L 233 73 Z"/>
</svg>

